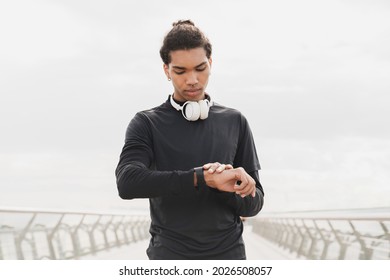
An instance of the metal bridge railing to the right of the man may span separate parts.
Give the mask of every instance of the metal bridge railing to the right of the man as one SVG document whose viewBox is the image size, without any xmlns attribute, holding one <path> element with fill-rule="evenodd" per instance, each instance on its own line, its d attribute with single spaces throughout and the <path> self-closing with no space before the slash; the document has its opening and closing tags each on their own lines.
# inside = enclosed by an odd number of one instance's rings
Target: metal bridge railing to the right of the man
<svg viewBox="0 0 390 280">
<path fill-rule="evenodd" d="M 390 259 L 390 216 L 290 214 L 252 220 L 253 232 L 297 258 Z"/>
</svg>

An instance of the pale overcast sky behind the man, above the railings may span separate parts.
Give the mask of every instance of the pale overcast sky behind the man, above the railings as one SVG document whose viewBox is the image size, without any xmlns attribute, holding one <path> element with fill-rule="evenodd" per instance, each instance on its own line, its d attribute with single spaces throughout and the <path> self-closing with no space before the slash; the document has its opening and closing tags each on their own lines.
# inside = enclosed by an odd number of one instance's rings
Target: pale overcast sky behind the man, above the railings
<svg viewBox="0 0 390 280">
<path fill-rule="evenodd" d="M 2 1 L 0 207 L 126 210 L 127 124 L 172 92 L 159 48 L 192 19 L 208 88 L 249 120 L 265 211 L 390 206 L 390 3 Z"/>
</svg>

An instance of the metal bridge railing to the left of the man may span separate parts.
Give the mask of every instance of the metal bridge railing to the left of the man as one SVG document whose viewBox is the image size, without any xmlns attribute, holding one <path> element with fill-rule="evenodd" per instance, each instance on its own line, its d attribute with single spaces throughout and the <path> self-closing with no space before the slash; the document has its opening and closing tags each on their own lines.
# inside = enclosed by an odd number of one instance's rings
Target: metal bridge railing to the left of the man
<svg viewBox="0 0 390 280">
<path fill-rule="evenodd" d="M 0 209 L 0 260 L 77 259 L 149 237 L 149 216 Z"/>
</svg>

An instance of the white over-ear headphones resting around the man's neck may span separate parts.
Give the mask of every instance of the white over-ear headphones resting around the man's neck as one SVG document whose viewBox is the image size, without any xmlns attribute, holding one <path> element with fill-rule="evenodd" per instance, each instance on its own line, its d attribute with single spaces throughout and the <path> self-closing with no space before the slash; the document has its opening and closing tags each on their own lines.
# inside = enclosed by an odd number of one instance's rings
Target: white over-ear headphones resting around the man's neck
<svg viewBox="0 0 390 280">
<path fill-rule="evenodd" d="M 199 101 L 187 101 L 180 106 L 173 99 L 173 95 L 169 97 L 171 105 L 178 111 L 181 111 L 183 117 L 187 121 L 197 121 L 199 119 L 204 120 L 209 116 L 209 109 L 213 106 L 213 102 L 209 99 L 199 100 Z"/>
</svg>

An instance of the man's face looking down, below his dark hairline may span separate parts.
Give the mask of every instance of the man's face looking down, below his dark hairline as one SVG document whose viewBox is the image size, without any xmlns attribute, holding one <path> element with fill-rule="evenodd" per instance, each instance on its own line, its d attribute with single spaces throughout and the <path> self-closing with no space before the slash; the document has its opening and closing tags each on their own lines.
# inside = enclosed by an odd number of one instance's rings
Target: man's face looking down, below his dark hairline
<svg viewBox="0 0 390 280">
<path fill-rule="evenodd" d="M 168 79 L 172 79 L 175 100 L 198 101 L 204 99 L 210 76 L 211 58 L 203 48 L 172 51 L 171 63 L 164 64 Z"/>
</svg>

